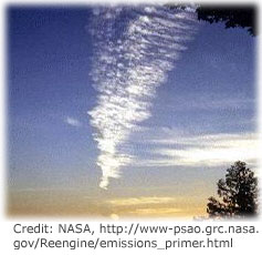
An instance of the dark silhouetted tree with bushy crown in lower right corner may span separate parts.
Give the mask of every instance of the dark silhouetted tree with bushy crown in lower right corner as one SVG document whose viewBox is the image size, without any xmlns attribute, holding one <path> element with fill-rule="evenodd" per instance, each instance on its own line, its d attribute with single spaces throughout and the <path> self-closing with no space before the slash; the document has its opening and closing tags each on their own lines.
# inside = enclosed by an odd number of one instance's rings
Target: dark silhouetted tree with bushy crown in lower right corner
<svg viewBox="0 0 262 255">
<path fill-rule="evenodd" d="M 226 180 L 219 180 L 218 195 L 209 197 L 207 212 L 210 217 L 245 217 L 258 213 L 258 178 L 238 161 L 227 170 Z"/>
</svg>

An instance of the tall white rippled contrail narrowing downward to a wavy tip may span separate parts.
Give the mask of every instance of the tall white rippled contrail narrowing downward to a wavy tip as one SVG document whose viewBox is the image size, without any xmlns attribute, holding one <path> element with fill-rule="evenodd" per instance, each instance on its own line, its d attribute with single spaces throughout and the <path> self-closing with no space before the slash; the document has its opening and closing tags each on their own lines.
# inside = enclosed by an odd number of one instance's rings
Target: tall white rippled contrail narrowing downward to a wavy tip
<svg viewBox="0 0 262 255">
<path fill-rule="evenodd" d="M 98 95 L 88 114 L 99 150 L 99 186 L 107 188 L 108 178 L 119 177 L 120 166 L 133 160 L 119 146 L 150 116 L 157 86 L 196 32 L 196 13 L 151 6 L 98 8 L 93 14 L 91 75 Z"/>
</svg>

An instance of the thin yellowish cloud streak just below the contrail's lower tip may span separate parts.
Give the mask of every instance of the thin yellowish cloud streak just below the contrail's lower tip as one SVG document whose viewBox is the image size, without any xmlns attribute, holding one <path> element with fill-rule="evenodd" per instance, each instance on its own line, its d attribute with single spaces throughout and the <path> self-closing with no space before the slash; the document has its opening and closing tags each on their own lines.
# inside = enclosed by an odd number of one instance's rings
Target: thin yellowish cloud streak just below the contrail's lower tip
<svg viewBox="0 0 262 255">
<path fill-rule="evenodd" d="M 170 196 L 140 196 L 140 197 L 109 200 L 107 201 L 107 203 L 115 206 L 137 206 L 148 204 L 166 204 L 175 201 L 176 201 L 175 197 Z"/>
</svg>

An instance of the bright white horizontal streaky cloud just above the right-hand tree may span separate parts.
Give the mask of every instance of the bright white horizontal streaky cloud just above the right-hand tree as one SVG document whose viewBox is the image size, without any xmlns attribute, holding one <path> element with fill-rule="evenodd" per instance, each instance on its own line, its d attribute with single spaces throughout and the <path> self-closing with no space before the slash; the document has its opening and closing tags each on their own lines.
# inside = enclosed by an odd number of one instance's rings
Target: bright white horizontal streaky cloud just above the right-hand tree
<svg viewBox="0 0 262 255">
<path fill-rule="evenodd" d="M 254 133 L 210 134 L 154 140 L 151 159 L 136 161 L 139 166 L 220 166 L 235 161 L 254 165 L 259 159 Z"/>
</svg>

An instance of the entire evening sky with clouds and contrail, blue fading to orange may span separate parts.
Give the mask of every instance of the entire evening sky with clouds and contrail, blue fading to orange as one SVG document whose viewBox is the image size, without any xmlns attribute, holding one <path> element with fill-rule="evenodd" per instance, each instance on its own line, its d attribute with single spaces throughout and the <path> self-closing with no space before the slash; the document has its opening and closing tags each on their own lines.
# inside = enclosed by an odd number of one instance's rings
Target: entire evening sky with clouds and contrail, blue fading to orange
<svg viewBox="0 0 262 255">
<path fill-rule="evenodd" d="M 193 217 L 235 161 L 256 167 L 245 30 L 163 7 L 7 14 L 10 215 Z"/>
</svg>

